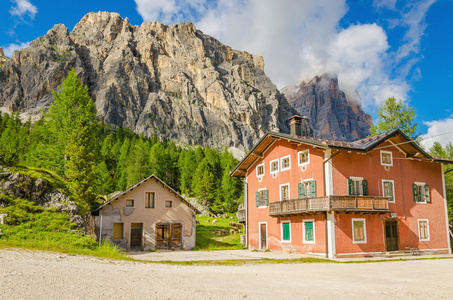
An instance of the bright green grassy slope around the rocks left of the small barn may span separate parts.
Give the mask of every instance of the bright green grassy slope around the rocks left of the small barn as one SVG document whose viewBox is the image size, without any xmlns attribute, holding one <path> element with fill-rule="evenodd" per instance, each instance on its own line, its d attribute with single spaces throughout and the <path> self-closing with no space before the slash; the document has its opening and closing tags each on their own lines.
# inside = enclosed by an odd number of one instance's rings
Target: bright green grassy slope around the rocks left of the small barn
<svg viewBox="0 0 453 300">
<path fill-rule="evenodd" d="M 14 167 L 10 172 L 41 177 L 49 182 L 49 188 L 67 191 L 65 181 L 58 175 L 44 169 Z M 65 253 L 85 254 L 98 257 L 127 257 L 118 249 L 104 243 L 99 247 L 91 236 L 77 233 L 77 225 L 68 221 L 66 213 L 54 208 L 43 208 L 33 201 L 17 198 L 12 195 L 1 195 L 0 213 L 6 213 L 6 225 L 0 225 L 3 235 L 0 237 L 0 248 L 27 248 L 50 250 Z"/>
</svg>

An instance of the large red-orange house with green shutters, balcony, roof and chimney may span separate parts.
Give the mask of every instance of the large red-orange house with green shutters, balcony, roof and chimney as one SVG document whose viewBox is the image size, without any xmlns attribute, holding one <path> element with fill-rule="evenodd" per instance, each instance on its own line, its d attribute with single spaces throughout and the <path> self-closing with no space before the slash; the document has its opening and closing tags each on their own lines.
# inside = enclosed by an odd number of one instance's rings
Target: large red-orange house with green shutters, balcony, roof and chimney
<svg viewBox="0 0 453 300">
<path fill-rule="evenodd" d="M 244 177 L 249 248 L 326 255 L 451 253 L 443 164 L 396 129 L 355 142 L 268 133 Z"/>
</svg>

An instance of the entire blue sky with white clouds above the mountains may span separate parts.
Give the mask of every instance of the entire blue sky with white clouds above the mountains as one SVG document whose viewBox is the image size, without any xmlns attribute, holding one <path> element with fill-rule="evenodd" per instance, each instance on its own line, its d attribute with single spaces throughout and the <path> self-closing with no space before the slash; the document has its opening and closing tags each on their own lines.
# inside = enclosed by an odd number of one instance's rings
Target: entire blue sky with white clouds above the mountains
<svg viewBox="0 0 453 300">
<path fill-rule="evenodd" d="M 373 119 L 395 96 L 415 107 L 426 136 L 453 131 L 453 0 L 3 0 L 0 47 L 10 56 L 54 24 L 71 31 L 91 11 L 118 12 L 134 25 L 192 21 L 235 49 L 262 55 L 280 88 L 336 73 L 346 93 L 359 91 Z M 445 144 L 453 134 L 437 140 Z"/>
</svg>

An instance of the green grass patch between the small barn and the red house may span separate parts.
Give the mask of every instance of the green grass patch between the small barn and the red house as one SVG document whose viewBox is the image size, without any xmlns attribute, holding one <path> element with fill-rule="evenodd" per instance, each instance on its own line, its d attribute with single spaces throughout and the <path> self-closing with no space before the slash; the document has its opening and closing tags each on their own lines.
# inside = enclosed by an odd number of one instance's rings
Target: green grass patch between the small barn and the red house
<svg viewBox="0 0 453 300">
<path fill-rule="evenodd" d="M 234 249 L 245 249 L 241 244 L 241 235 L 243 229 L 239 233 L 230 235 L 230 222 L 236 222 L 237 218 L 224 219 L 224 218 L 212 218 L 208 216 L 197 216 L 200 224 L 197 224 L 197 241 L 195 247 L 192 250 L 234 250 Z M 216 219 L 217 225 L 213 225 L 212 221 Z M 207 221 L 210 222 L 207 222 Z M 218 236 L 217 232 L 224 230 L 227 235 Z"/>
</svg>

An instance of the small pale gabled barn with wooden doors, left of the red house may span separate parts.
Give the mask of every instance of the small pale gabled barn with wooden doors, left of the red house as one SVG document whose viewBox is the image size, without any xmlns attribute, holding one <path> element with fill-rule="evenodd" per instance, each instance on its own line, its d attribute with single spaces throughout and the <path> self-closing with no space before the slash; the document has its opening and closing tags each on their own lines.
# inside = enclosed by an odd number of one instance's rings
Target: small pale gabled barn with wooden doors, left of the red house
<svg viewBox="0 0 453 300">
<path fill-rule="evenodd" d="M 197 213 L 155 175 L 92 211 L 97 237 L 127 250 L 192 249 Z"/>
</svg>

